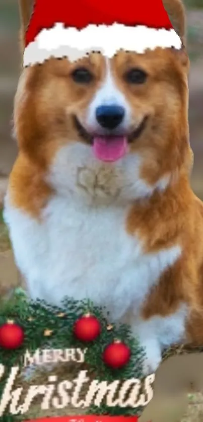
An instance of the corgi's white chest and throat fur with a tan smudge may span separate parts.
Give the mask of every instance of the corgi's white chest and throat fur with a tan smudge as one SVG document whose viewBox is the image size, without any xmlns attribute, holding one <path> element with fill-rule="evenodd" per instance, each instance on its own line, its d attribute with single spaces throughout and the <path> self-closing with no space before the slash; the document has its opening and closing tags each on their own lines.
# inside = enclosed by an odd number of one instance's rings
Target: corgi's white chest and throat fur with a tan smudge
<svg viewBox="0 0 203 422">
<path fill-rule="evenodd" d="M 17 263 L 30 294 L 59 304 L 64 296 L 89 298 L 119 319 L 138 309 L 179 246 L 145 254 L 142 239 L 126 232 L 129 207 L 153 188 L 139 178 L 140 157 L 112 165 L 95 160 L 81 144 L 56 154 L 49 183 L 56 190 L 41 223 L 6 201 Z M 162 182 L 159 188 L 162 188 Z"/>
</svg>

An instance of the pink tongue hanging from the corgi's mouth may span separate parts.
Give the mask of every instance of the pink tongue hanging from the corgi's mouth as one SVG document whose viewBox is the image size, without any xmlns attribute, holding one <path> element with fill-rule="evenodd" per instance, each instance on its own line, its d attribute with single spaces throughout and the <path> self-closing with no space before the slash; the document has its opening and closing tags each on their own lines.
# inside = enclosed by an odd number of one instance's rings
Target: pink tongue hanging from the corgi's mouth
<svg viewBox="0 0 203 422">
<path fill-rule="evenodd" d="M 127 151 L 127 138 L 125 136 L 94 137 L 93 152 L 101 161 L 117 161 Z"/>
</svg>

